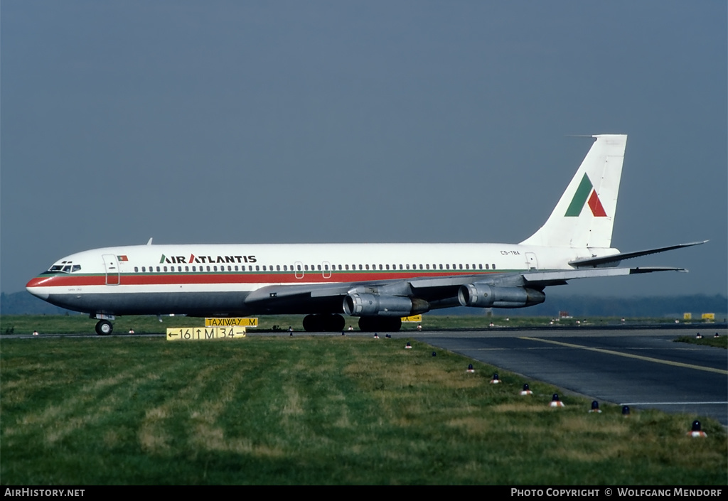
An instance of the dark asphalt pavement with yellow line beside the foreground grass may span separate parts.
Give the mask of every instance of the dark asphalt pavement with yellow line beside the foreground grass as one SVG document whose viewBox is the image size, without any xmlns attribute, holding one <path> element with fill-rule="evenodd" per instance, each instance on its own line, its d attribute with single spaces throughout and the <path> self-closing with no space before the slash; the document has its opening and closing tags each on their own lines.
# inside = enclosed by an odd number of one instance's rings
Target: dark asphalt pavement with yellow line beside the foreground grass
<svg viewBox="0 0 728 501">
<path fill-rule="evenodd" d="M 695 333 L 585 329 L 427 332 L 416 339 L 598 401 L 709 416 L 728 426 L 728 352 L 674 342 L 689 335 Z"/>
</svg>

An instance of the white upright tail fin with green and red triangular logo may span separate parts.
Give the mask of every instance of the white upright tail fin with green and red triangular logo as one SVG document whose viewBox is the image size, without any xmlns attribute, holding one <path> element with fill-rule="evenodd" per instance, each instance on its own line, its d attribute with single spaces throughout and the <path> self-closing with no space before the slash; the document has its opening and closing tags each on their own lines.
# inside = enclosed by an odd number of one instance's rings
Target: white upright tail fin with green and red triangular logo
<svg viewBox="0 0 728 501">
<path fill-rule="evenodd" d="M 591 149 L 546 223 L 523 245 L 609 248 L 627 135 L 593 135 Z"/>
</svg>

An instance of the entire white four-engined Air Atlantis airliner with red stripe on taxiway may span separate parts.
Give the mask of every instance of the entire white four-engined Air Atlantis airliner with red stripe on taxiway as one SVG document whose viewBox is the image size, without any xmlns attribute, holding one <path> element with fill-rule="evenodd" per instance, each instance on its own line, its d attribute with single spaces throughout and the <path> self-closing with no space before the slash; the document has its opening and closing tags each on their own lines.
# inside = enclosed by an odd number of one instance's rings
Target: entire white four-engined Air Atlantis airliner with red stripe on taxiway
<svg viewBox="0 0 728 501">
<path fill-rule="evenodd" d="M 111 334 L 117 315 L 303 314 L 306 331 L 397 331 L 400 317 L 448 307 L 521 308 L 567 280 L 681 268 L 619 267 L 612 226 L 626 135 L 595 141 L 546 223 L 519 244 L 131 245 L 72 254 L 28 292 L 84 312 Z"/>
</svg>

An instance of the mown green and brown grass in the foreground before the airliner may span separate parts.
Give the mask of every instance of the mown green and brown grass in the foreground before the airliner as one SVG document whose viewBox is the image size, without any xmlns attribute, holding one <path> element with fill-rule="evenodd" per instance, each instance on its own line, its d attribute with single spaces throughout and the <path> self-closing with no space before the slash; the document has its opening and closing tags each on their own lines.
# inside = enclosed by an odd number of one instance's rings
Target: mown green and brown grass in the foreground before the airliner
<svg viewBox="0 0 728 501">
<path fill-rule="evenodd" d="M 0 482 L 726 484 L 715 421 L 551 409 L 553 387 L 406 341 L 3 339 Z"/>
</svg>

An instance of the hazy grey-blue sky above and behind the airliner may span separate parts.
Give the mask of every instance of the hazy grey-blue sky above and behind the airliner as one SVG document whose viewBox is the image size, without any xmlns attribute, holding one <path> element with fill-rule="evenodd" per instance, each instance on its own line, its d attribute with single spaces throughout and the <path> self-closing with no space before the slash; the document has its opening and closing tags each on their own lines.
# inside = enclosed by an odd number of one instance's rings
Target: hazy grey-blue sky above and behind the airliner
<svg viewBox="0 0 728 501">
<path fill-rule="evenodd" d="M 629 135 L 612 243 L 710 239 L 727 293 L 724 1 L 0 3 L 0 289 L 107 245 L 520 242 Z M 630 263 L 632 264 L 632 263 Z"/>
</svg>

